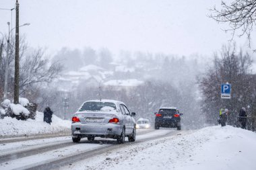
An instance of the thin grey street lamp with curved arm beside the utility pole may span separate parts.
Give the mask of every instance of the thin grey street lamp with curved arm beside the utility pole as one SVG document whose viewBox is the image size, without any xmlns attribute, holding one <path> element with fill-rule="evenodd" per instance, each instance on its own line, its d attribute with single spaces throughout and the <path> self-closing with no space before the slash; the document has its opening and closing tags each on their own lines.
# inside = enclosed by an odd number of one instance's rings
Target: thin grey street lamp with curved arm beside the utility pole
<svg viewBox="0 0 256 170">
<path fill-rule="evenodd" d="M 10 30 L 10 23 L 7 22 L 8 25 L 8 39 L 7 39 L 7 55 L 6 55 L 6 60 L 5 60 L 5 86 L 4 86 L 4 90 L 3 90 L 3 99 L 7 98 L 7 85 L 8 85 L 8 72 L 9 72 L 9 49 L 10 49 L 10 43 L 9 43 L 9 38 L 10 38 L 10 34 L 11 32 L 15 29 L 12 28 Z M 22 26 L 29 26 L 29 23 L 23 24 Z M 19 26 L 19 27 L 22 27 Z"/>
</svg>

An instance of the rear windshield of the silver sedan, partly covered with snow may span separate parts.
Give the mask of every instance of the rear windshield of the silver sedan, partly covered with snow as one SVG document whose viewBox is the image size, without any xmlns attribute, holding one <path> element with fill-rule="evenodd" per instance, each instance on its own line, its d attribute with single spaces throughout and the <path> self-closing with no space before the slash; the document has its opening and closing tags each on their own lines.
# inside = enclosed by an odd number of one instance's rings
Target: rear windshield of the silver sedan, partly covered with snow
<svg viewBox="0 0 256 170">
<path fill-rule="evenodd" d="M 79 112 L 83 111 L 112 111 L 117 110 L 115 103 L 111 102 L 100 102 L 100 101 L 88 101 L 84 103 Z"/>
</svg>

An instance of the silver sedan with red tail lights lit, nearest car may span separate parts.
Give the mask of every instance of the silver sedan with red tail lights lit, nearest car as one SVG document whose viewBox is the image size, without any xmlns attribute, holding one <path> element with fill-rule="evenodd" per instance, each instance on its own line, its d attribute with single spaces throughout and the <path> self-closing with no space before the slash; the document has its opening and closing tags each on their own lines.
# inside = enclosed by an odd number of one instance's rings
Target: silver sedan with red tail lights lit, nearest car
<svg viewBox="0 0 256 170">
<path fill-rule="evenodd" d="M 73 142 L 87 137 L 114 138 L 119 144 L 135 141 L 136 124 L 134 112 L 129 112 L 125 103 L 115 100 L 90 100 L 84 102 L 73 115 L 71 131 Z"/>
</svg>

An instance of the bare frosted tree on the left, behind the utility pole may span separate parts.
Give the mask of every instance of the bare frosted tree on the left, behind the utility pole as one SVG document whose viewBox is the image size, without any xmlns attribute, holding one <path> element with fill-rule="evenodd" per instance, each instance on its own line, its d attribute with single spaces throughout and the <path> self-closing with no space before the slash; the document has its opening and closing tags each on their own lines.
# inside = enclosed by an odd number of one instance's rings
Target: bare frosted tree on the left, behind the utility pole
<svg viewBox="0 0 256 170">
<path fill-rule="evenodd" d="M 9 65 L 8 74 L 8 87 L 9 87 L 9 97 L 13 95 L 13 73 L 14 73 L 14 50 L 15 50 L 14 38 L 11 38 L 10 42 L 10 56 L 6 63 L 5 58 L 7 57 L 7 44 L 3 44 L 3 62 L 0 65 L 0 97 L 2 97 L 3 92 L 3 82 L 5 75 L 5 65 Z M 40 83 L 50 83 L 55 79 L 59 73 L 62 71 L 63 66 L 59 60 L 51 62 L 46 59 L 44 55 L 44 49 L 38 48 L 36 50 L 30 50 L 26 44 L 25 38 L 20 38 L 20 94 L 24 93 L 34 93 L 38 89 L 37 85 Z M 11 88 L 10 88 L 11 87 Z M 30 92 L 29 92 L 30 91 Z M 28 97 L 28 96 L 27 96 Z"/>
</svg>

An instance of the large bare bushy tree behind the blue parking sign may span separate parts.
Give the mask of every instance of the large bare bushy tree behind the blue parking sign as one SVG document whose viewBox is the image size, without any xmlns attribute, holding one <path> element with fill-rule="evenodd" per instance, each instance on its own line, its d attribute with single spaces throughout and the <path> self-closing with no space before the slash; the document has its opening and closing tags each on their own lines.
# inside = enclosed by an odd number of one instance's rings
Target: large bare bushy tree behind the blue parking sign
<svg viewBox="0 0 256 170">
<path fill-rule="evenodd" d="M 236 125 L 236 118 L 242 107 L 247 107 L 249 113 L 255 113 L 256 86 L 255 75 L 251 73 L 251 56 L 236 52 L 235 46 L 224 46 L 220 55 L 216 54 L 214 65 L 207 70 L 201 79 L 201 92 L 203 94 L 202 110 L 207 122 L 216 122 L 220 108 L 230 110 L 229 124 Z M 231 99 L 220 98 L 220 85 L 231 83 Z"/>
</svg>

